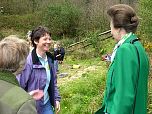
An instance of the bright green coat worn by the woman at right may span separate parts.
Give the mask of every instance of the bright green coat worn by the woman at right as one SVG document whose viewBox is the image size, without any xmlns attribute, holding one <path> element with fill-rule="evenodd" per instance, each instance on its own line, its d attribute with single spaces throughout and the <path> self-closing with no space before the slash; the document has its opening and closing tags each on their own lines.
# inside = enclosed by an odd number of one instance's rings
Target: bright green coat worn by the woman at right
<svg viewBox="0 0 152 114">
<path fill-rule="evenodd" d="M 131 35 L 117 49 L 108 70 L 102 108 L 95 114 L 104 114 L 103 111 L 108 114 L 147 114 L 149 60 L 139 41 L 130 43 L 136 38 Z"/>
</svg>

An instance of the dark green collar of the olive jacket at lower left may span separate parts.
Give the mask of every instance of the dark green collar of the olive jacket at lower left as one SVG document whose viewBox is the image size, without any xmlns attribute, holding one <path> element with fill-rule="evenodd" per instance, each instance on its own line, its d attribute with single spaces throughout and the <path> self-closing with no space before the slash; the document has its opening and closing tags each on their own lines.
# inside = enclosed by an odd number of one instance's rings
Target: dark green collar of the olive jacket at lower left
<svg viewBox="0 0 152 114">
<path fill-rule="evenodd" d="M 10 71 L 0 71 L 0 80 L 19 86 L 16 76 Z"/>
</svg>

